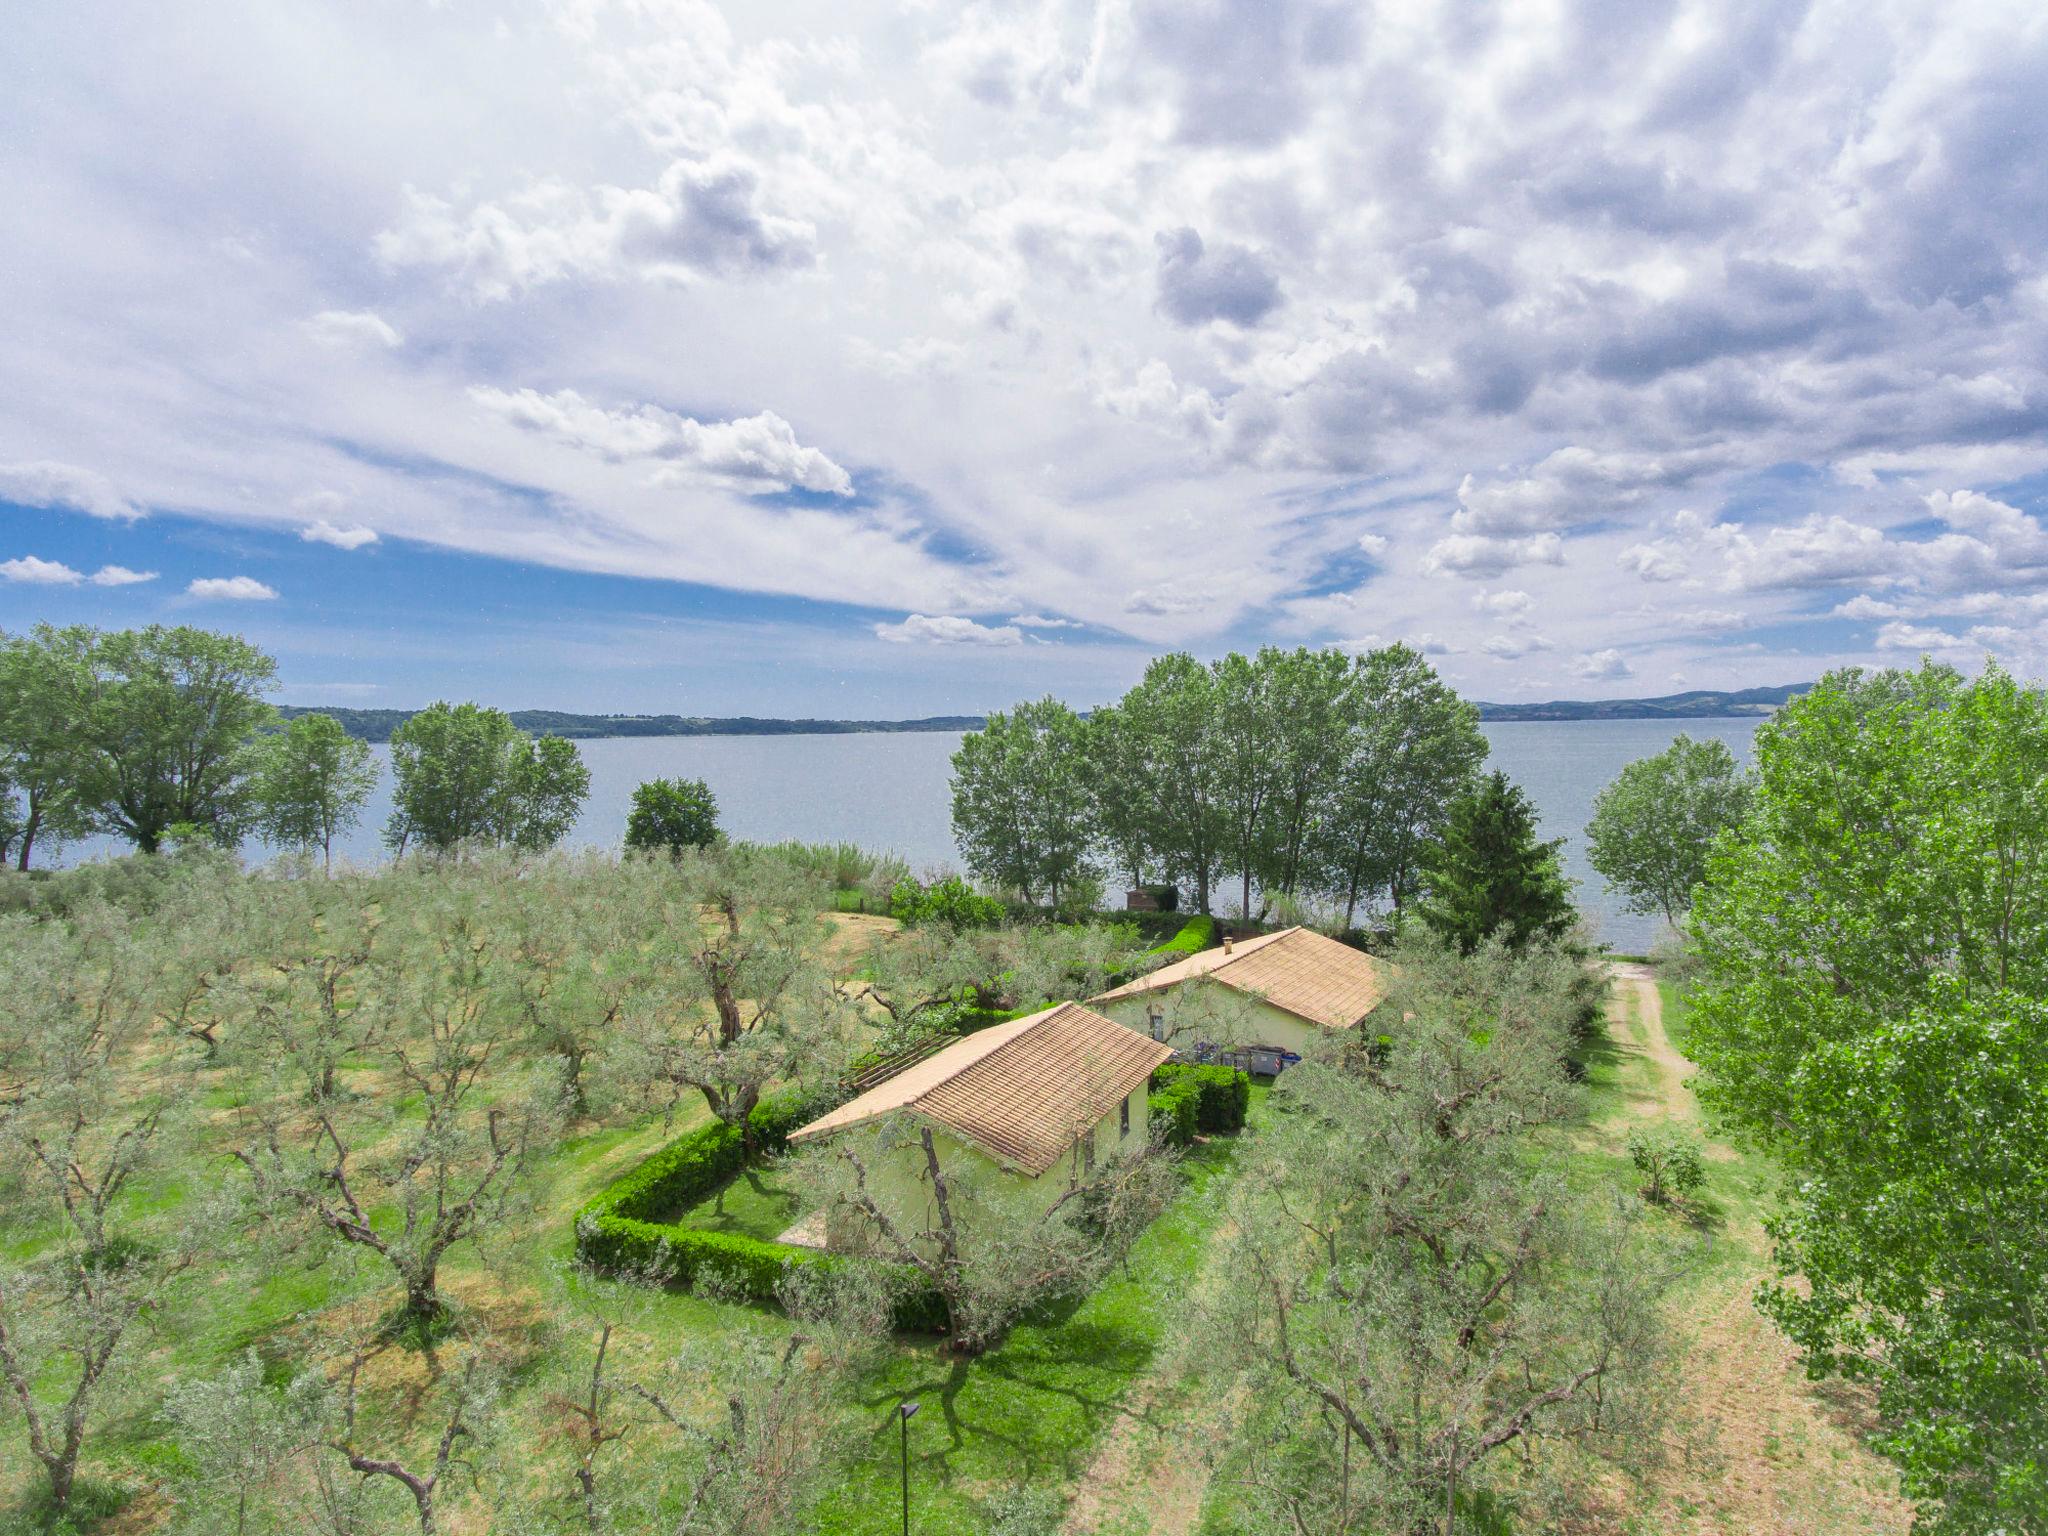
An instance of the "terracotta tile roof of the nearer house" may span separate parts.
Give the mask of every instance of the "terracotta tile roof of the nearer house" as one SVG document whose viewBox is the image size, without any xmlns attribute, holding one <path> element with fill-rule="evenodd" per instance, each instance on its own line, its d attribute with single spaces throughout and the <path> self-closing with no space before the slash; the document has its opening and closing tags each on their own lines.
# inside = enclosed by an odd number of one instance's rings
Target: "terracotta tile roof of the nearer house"
<svg viewBox="0 0 2048 1536">
<path fill-rule="evenodd" d="M 1171 1055 L 1081 1004 L 1059 1004 L 948 1044 L 791 1141 L 907 1110 L 1036 1178 Z"/>
</svg>

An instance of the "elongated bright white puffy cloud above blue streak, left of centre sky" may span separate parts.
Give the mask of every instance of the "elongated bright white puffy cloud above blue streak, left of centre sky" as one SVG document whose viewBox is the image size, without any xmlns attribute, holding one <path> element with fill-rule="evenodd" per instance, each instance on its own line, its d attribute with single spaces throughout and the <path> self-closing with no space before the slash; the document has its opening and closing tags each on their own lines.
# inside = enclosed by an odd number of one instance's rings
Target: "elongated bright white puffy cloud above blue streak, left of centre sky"
<svg viewBox="0 0 2048 1536">
<path fill-rule="evenodd" d="M 819 449 L 797 442 L 797 430 L 774 412 L 698 422 L 659 406 L 606 410 L 573 389 L 543 395 L 537 389 L 479 387 L 469 395 L 514 426 L 612 463 L 653 459 L 762 492 L 854 494 L 854 477 Z"/>
</svg>

